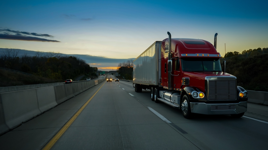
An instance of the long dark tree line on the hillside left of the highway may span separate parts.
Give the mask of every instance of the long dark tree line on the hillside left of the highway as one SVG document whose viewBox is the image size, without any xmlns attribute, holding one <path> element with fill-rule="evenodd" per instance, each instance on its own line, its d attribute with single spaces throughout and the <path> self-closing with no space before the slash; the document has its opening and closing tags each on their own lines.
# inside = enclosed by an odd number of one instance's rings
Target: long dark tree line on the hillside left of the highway
<svg viewBox="0 0 268 150">
<path fill-rule="evenodd" d="M 74 79 L 80 74 L 96 76 L 97 67 L 90 67 L 85 60 L 59 52 L 39 52 L 34 56 L 18 55 L 18 49 L 6 48 L 0 54 L 0 67 L 31 73 L 55 80 Z"/>
</svg>

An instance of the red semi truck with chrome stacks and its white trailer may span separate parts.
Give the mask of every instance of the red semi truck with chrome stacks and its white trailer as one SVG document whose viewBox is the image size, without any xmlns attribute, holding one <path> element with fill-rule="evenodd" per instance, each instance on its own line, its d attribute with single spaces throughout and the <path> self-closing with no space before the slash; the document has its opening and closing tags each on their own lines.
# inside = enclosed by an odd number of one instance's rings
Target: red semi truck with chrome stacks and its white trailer
<svg viewBox="0 0 268 150">
<path fill-rule="evenodd" d="M 169 38 L 156 41 L 133 61 L 135 92 L 151 90 L 151 100 L 162 101 L 192 113 L 241 117 L 247 111 L 248 94 L 236 77 L 225 72 L 226 61 L 205 40 Z"/>
</svg>

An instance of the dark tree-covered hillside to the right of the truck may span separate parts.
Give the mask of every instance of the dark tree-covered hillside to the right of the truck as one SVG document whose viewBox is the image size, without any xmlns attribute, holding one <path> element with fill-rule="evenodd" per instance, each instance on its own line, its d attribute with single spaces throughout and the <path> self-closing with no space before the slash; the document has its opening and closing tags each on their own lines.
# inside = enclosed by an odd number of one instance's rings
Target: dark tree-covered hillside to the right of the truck
<svg viewBox="0 0 268 150">
<path fill-rule="evenodd" d="M 268 48 L 226 53 L 226 72 L 246 90 L 268 92 Z M 229 56 L 229 57 L 228 57 Z"/>
</svg>

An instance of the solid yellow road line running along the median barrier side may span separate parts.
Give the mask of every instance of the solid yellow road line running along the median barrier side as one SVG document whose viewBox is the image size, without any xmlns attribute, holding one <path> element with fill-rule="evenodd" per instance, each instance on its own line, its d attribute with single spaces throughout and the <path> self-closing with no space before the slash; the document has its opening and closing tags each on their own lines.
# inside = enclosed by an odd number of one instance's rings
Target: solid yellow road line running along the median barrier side
<svg viewBox="0 0 268 150">
<path fill-rule="evenodd" d="M 103 85 L 105 82 L 103 83 Z M 103 86 L 102 85 L 102 86 Z M 92 100 L 92 98 L 99 92 L 102 86 L 90 97 L 90 99 L 85 102 L 85 104 L 73 115 L 73 117 L 59 130 L 59 132 L 49 141 L 49 143 L 43 148 L 43 150 L 49 150 L 58 141 L 62 134 L 70 127 L 70 125 L 75 121 L 76 117 L 82 112 L 82 110 L 87 106 L 87 104 Z"/>
</svg>

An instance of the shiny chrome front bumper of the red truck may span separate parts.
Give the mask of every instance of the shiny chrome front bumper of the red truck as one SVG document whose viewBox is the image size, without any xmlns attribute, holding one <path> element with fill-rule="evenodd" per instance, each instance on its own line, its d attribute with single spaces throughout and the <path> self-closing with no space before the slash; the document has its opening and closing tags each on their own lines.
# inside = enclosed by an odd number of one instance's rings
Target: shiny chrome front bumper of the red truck
<svg viewBox="0 0 268 150">
<path fill-rule="evenodd" d="M 190 102 L 190 106 L 192 113 L 200 113 L 206 115 L 230 115 L 247 111 L 247 102 L 239 102 L 233 104 L 206 104 Z"/>
</svg>

